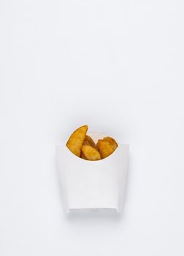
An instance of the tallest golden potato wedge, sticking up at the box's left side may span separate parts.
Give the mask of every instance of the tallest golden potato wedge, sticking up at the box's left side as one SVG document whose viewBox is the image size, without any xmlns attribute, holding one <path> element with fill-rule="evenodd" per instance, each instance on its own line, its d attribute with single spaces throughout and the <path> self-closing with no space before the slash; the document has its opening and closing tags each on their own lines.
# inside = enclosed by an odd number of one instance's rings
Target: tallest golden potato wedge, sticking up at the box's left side
<svg viewBox="0 0 184 256">
<path fill-rule="evenodd" d="M 69 140 L 66 143 L 66 146 L 75 154 L 77 157 L 80 157 L 81 148 L 85 140 L 86 132 L 88 131 L 88 125 L 83 125 L 76 129 L 72 135 L 69 137 Z"/>
</svg>

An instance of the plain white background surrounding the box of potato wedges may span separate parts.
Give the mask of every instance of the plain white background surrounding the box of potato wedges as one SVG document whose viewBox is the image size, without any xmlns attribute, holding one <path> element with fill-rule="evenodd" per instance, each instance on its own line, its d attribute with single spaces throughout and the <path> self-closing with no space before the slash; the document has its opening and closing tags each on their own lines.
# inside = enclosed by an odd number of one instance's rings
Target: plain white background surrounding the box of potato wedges
<svg viewBox="0 0 184 256">
<path fill-rule="evenodd" d="M 183 12 L 1 0 L 1 256 L 184 255 Z M 82 124 L 131 146 L 122 217 L 64 216 L 55 144 Z"/>
</svg>

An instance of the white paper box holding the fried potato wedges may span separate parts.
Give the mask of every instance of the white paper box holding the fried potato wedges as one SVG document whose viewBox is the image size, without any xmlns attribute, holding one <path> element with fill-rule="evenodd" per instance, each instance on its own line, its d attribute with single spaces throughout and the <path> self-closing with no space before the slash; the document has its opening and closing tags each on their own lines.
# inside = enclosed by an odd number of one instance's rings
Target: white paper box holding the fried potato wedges
<svg viewBox="0 0 184 256">
<path fill-rule="evenodd" d="M 103 138 L 99 133 L 91 136 Z M 119 144 L 109 157 L 88 161 L 76 157 L 66 143 L 56 146 L 64 211 L 83 208 L 123 210 L 129 145 Z"/>
</svg>

